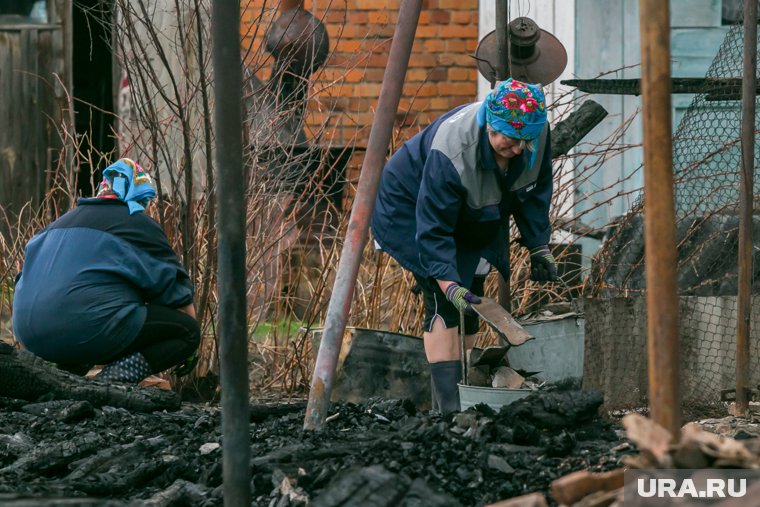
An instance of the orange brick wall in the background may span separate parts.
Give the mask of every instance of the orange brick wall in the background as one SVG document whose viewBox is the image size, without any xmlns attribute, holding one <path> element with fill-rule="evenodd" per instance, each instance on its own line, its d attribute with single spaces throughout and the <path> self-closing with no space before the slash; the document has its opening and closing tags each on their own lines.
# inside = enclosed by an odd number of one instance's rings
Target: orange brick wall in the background
<svg viewBox="0 0 760 507">
<path fill-rule="evenodd" d="M 314 3 L 318 4 L 312 8 Z M 313 76 L 307 136 L 321 144 L 366 146 L 388 59 L 400 0 L 306 0 L 322 19 L 331 54 Z M 268 78 L 271 57 L 259 51 L 266 26 L 278 16 L 262 0 L 243 2 L 248 65 Z M 423 0 L 397 116 L 400 142 L 449 109 L 475 100 L 478 0 Z"/>
</svg>

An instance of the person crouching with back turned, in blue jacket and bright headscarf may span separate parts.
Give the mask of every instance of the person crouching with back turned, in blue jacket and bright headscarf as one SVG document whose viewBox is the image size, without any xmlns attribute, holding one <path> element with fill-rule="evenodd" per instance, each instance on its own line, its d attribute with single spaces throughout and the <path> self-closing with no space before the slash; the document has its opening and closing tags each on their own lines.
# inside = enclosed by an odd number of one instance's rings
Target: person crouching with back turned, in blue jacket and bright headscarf
<svg viewBox="0 0 760 507">
<path fill-rule="evenodd" d="M 143 211 L 150 176 L 121 159 L 97 194 L 79 199 L 29 241 L 16 281 L 13 329 L 32 353 L 62 369 L 137 383 L 194 355 L 200 327 L 187 271 Z"/>
</svg>

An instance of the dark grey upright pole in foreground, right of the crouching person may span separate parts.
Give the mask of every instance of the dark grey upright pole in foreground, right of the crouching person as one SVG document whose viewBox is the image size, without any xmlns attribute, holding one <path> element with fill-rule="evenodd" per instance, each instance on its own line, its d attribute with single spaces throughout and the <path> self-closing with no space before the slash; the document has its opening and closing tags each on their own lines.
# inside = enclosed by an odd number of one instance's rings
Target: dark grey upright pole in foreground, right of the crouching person
<svg viewBox="0 0 760 507">
<path fill-rule="evenodd" d="M 219 217 L 219 361 L 222 384 L 224 505 L 251 505 L 248 434 L 248 330 L 245 296 L 245 194 L 243 185 L 243 75 L 240 1 L 214 0 L 214 130 Z"/>
</svg>

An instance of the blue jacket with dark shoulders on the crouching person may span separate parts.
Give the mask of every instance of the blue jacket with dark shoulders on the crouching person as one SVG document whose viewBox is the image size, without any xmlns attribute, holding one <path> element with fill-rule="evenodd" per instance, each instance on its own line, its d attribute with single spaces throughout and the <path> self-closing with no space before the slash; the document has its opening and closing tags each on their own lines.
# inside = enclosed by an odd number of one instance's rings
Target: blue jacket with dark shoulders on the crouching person
<svg viewBox="0 0 760 507">
<path fill-rule="evenodd" d="M 80 199 L 34 236 L 13 299 L 13 330 L 34 354 L 98 364 L 126 348 L 146 303 L 193 301 L 193 285 L 161 227 L 116 199 Z"/>
</svg>

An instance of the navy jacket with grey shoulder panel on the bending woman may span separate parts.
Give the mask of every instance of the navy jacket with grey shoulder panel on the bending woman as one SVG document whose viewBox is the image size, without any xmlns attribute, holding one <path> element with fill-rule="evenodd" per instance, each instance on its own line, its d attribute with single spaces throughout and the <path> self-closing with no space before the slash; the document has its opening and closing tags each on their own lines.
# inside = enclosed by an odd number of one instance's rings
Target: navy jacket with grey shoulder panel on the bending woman
<svg viewBox="0 0 760 507">
<path fill-rule="evenodd" d="M 404 268 L 470 286 L 481 257 L 509 276 L 507 218 L 527 248 L 549 242 L 551 139 L 537 163 L 524 150 L 504 175 L 494 159 L 480 103 L 449 111 L 388 161 L 372 216 L 380 247 Z M 539 143 L 537 142 L 536 145 Z"/>
</svg>

